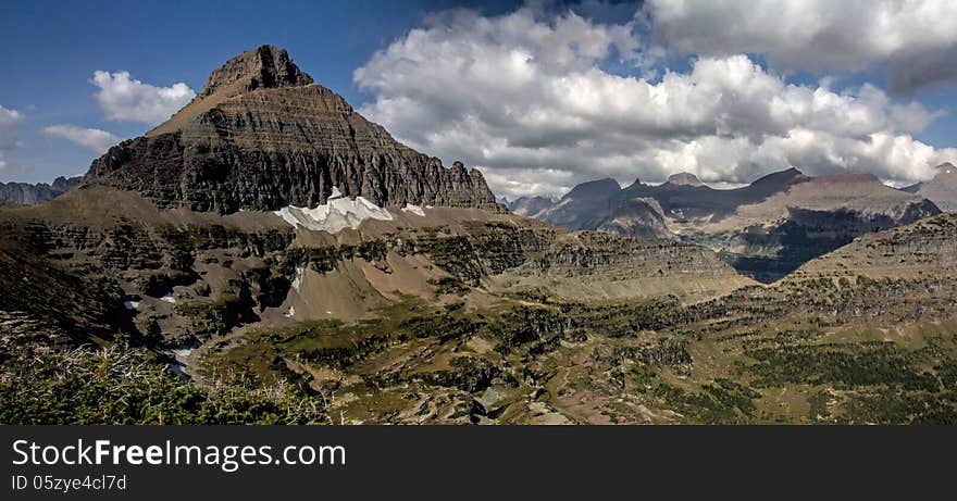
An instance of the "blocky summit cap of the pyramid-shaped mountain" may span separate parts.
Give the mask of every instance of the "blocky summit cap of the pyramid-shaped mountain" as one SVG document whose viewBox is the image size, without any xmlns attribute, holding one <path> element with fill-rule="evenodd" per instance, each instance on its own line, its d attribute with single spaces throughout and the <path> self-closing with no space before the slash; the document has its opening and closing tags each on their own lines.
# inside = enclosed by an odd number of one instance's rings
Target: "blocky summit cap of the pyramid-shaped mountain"
<svg viewBox="0 0 957 501">
<path fill-rule="evenodd" d="M 260 46 L 234 57 L 214 70 L 197 99 L 221 91 L 233 95 L 260 88 L 299 87 L 312 83 L 312 77 L 299 70 L 286 49 Z"/>
</svg>

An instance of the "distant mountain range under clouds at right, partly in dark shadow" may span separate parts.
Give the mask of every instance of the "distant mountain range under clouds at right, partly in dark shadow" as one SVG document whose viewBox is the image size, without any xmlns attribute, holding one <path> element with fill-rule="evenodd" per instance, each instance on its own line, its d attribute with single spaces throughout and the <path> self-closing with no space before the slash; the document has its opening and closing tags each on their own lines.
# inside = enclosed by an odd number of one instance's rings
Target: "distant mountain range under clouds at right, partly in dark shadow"
<svg viewBox="0 0 957 501">
<path fill-rule="evenodd" d="M 688 173 L 623 189 L 611 179 L 585 183 L 532 216 L 577 229 L 678 236 L 773 281 L 857 236 L 937 213 L 933 202 L 869 174 L 811 177 L 790 168 L 735 189 L 711 188 Z"/>
</svg>

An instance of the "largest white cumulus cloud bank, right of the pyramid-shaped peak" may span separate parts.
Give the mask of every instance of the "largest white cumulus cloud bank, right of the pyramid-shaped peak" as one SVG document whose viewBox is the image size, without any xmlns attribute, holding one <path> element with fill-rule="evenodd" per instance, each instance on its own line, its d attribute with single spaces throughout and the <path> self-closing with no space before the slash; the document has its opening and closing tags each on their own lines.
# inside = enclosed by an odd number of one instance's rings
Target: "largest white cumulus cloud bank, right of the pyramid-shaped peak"
<svg viewBox="0 0 957 501">
<path fill-rule="evenodd" d="M 792 166 L 908 181 L 957 160 L 910 135 L 939 112 L 871 85 L 794 85 L 742 54 L 701 57 L 659 80 L 606 71 L 614 58 L 642 64 L 633 27 L 531 9 L 439 15 L 355 72 L 374 97 L 360 111 L 423 152 L 483 167 L 510 198 L 680 171 L 712 183 Z"/>
</svg>

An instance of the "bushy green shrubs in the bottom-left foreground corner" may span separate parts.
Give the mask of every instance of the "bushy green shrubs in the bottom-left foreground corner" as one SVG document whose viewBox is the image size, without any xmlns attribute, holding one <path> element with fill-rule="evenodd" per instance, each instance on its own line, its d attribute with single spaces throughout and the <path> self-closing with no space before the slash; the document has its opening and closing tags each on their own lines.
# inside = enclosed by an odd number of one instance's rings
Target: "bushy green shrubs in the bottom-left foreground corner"
<svg viewBox="0 0 957 501">
<path fill-rule="evenodd" d="M 0 370 L 4 424 L 307 424 L 321 400 L 279 383 L 253 388 L 239 374 L 186 383 L 145 350 L 28 348 Z"/>
</svg>

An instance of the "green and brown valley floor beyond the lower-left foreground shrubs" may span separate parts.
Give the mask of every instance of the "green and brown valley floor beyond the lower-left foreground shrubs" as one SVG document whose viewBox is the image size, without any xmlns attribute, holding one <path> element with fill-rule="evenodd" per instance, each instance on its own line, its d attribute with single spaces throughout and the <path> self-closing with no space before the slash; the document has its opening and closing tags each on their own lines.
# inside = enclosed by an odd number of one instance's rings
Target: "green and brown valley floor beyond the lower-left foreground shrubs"
<svg viewBox="0 0 957 501">
<path fill-rule="evenodd" d="M 957 323 L 928 308 L 904 330 L 872 327 L 948 300 L 925 287 L 811 280 L 693 305 L 408 298 L 353 324 L 254 331 L 207 366 L 334 394 L 345 422 L 957 423 Z"/>
</svg>

